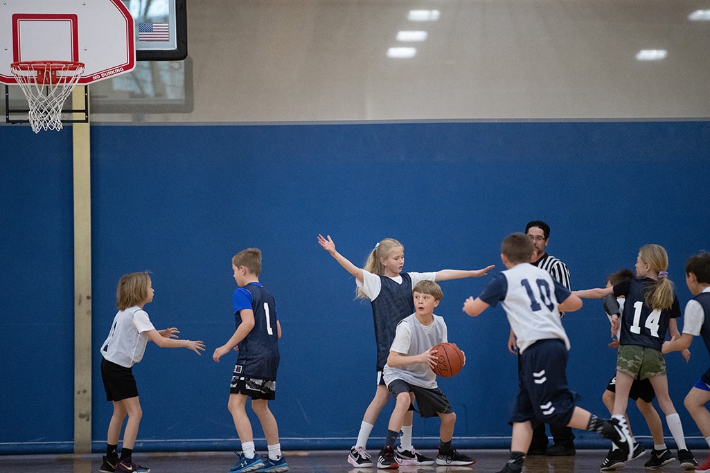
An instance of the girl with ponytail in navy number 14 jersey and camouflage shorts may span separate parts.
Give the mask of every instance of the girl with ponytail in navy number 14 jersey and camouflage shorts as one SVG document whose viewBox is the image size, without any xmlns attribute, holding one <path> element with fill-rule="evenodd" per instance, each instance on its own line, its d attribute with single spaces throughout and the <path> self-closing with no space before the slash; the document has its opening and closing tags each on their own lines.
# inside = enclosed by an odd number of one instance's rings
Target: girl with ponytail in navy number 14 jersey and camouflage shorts
<svg viewBox="0 0 710 473">
<path fill-rule="evenodd" d="M 673 283 L 668 279 L 668 255 L 660 245 L 648 244 L 638 251 L 636 277 L 611 288 L 574 291 L 581 298 L 603 298 L 613 293 L 626 298 L 621 320 L 612 316 L 612 327 L 621 325 L 616 359 L 616 397 L 613 417 L 623 416 L 634 379 L 650 379 L 658 406 L 666 415 L 668 429 L 678 445 L 678 460 L 683 468 L 697 466 L 687 449 L 680 416 L 668 395 L 665 359 L 661 353 L 670 323 L 680 317 L 680 305 Z M 671 322 L 672 320 L 672 322 Z M 674 457 L 665 443 L 654 445 L 652 466 L 670 463 Z"/>
</svg>

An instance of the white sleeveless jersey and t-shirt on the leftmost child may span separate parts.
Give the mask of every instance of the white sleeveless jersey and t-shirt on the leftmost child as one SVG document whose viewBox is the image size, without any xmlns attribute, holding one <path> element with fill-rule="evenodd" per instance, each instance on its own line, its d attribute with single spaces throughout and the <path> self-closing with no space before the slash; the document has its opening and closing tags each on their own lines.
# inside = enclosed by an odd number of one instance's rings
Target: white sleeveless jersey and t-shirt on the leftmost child
<svg viewBox="0 0 710 473">
<path fill-rule="evenodd" d="M 130 368 L 143 359 L 148 344 L 145 332 L 155 330 L 148 312 L 137 305 L 119 310 L 109 337 L 101 345 L 101 355 L 112 363 Z"/>
</svg>

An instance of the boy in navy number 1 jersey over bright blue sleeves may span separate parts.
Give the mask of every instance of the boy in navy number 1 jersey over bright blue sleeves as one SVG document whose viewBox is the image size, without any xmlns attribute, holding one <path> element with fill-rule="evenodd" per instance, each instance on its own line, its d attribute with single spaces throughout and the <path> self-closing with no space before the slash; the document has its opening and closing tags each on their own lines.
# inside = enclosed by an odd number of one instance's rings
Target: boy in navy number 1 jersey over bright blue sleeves
<svg viewBox="0 0 710 473">
<path fill-rule="evenodd" d="M 212 355 L 212 359 L 219 363 L 219 359 L 231 349 L 239 351 L 227 407 L 234 418 L 242 452 L 239 462 L 229 472 L 286 472 L 288 464 L 281 456 L 278 425 L 268 408 L 268 401 L 275 398 L 281 325 L 273 296 L 259 283 L 261 251 L 257 248 L 239 251 L 231 259 L 231 268 L 239 286 L 232 295 L 236 330 Z M 251 398 L 251 408 L 266 436 L 268 456 L 264 455 L 263 460 L 256 455 L 254 447 L 251 422 L 246 413 L 248 398 Z"/>
</svg>

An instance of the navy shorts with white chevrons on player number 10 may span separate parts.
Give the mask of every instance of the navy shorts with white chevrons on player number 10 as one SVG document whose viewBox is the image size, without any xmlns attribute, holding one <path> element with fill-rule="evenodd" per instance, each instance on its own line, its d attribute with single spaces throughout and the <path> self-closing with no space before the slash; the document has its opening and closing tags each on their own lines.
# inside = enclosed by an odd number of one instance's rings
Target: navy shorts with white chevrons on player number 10
<svg viewBox="0 0 710 473">
<path fill-rule="evenodd" d="M 567 347 L 560 339 L 538 340 L 520 354 L 520 391 L 511 423 L 567 425 L 575 394 L 567 388 Z"/>
</svg>

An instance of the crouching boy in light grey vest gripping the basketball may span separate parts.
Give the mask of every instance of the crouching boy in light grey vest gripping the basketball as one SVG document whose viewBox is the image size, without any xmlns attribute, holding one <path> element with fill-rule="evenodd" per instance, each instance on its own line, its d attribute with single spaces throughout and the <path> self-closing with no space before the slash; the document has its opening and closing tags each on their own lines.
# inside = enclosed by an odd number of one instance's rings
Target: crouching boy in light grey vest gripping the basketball
<svg viewBox="0 0 710 473">
<path fill-rule="evenodd" d="M 454 435 L 456 413 L 446 396 L 439 391 L 437 376 L 432 371 L 436 366 L 435 345 L 447 342 L 447 327 L 444 318 L 435 315 L 443 293 L 434 281 L 420 281 L 413 290 L 415 312 L 397 325 L 383 376 L 387 388 L 396 399 L 396 404 L 387 429 L 385 447 L 380 451 L 377 467 L 395 469 L 394 444 L 404 423 L 405 413 L 417 399 L 422 417 L 438 415 L 442 421 L 439 429 L 441 445 L 436 463 L 441 465 L 466 465 L 475 463 L 471 457 L 454 450 L 451 440 Z M 432 462 L 433 463 L 433 462 Z M 421 464 L 421 463 L 420 463 Z"/>
</svg>

